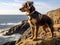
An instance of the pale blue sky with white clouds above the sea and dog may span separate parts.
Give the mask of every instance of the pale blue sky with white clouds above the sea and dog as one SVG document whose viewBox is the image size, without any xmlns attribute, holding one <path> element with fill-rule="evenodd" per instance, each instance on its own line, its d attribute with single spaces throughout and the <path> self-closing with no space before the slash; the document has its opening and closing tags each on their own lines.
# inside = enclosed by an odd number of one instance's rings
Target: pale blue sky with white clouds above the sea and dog
<svg viewBox="0 0 60 45">
<path fill-rule="evenodd" d="M 25 14 L 20 12 L 19 8 L 26 1 L 33 1 L 36 10 L 43 14 L 60 8 L 60 0 L 0 0 L 0 15 Z"/>
</svg>

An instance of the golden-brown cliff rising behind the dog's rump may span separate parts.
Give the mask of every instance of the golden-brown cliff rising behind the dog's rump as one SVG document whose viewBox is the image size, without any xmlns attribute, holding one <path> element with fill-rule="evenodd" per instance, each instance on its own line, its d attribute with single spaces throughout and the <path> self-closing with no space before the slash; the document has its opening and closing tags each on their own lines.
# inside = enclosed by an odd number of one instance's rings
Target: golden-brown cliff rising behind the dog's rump
<svg viewBox="0 0 60 45">
<path fill-rule="evenodd" d="M 47 12 L 47 15 L 53 19 L 54 24 L 60 24 L 60 8 Z"/>
</svg>

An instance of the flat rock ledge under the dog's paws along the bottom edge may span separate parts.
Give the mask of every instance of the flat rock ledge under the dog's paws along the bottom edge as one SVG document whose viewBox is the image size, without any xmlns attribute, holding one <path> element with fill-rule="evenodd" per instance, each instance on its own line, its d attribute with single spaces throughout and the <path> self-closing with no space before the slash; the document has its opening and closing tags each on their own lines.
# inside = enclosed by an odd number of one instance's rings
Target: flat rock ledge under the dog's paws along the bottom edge
<svg viewBox="0 0 60 45">
<path fill-rule="evenodd" d="M 57 39 L 37 40 L 37 41 L 27 39 L 24 40 L 24 43 L 21 44 L 18 43 L 16 45 L 60 45 L 60 42 Z"/>
</svg>

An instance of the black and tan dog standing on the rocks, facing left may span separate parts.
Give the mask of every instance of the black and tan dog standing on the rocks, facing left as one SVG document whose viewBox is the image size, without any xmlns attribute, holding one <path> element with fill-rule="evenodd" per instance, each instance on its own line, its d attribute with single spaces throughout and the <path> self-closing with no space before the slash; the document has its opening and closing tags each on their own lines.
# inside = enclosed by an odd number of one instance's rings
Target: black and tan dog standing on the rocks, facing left
<svg viewBox="0 0 60 45">
<path fill-rule="evenodd" d="M 50 17 L 37 12 L 32 1 L 25 2 L 19 10 L 27 13 L 28 22 L 32 28 L 31 39 L 37 39 L 39 26 L 43 26 L 44 31 L 46 31 L 47 26 L 49 26 L 53 37 L 53 21 Z"/>
</svg>

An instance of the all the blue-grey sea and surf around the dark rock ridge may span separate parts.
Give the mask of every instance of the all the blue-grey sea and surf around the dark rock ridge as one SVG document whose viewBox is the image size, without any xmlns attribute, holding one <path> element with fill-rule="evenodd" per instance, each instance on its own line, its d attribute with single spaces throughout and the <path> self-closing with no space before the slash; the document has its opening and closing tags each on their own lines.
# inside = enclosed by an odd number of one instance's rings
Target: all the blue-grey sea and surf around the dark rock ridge
<svg viewBox="0 0 60 45">
<path fill-rule="evenodd" d="M 5 29 L 9 29 L 15 25 L 21 24 L 22 20 L 27 20 L 26 15 L 0 15 L 0 32 Z M 9 36 L 4 36 L 4 33 L 0 33 L 0 45 L 17 41 L 20 38 L 20 34 L 13 34 Z"/>
</svg>

